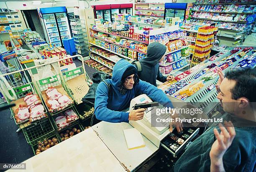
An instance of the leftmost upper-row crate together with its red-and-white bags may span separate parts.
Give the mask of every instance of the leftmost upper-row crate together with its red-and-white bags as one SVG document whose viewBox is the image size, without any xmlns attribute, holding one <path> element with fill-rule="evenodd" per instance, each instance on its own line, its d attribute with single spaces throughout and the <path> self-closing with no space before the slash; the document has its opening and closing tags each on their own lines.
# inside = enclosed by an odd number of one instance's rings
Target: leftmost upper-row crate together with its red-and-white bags
<svg viewBox="0 0 256 172">
<path fill-rule="evenodd" d="M 32 82 L 13 87 L 17 100 L 6 99 L 7 103 L 15 103 L 11 107 L 11 115 L 20 129 L 28 127 L 32 122 L 47 118 L 46 107 Z"/>
</svg>

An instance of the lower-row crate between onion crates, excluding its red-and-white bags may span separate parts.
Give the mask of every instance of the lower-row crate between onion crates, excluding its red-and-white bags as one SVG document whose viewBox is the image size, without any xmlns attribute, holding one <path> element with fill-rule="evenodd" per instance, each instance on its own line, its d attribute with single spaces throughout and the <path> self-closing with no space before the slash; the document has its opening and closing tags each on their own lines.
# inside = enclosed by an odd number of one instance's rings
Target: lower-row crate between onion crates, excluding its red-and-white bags
<svg viewBox="0 0 256 172">
<path fill-rule="evenodd" d="M 66 124 L 64 124 L 64 125 L 61 126 L 61 127 L 57 126 L 57 124 L 56 124 L 56 122 L 55 122 L 55 119 L 56 119 L 57 117 L 60 117 L 60 116 L 65 116 L 64 114 L 65 114 L 65 112 L 66 112 L 67 110 L 73 110 L 73 111 L 77 114 L 77 117 L 75 117 L 74 120 L 72 120 L 71 122 L 67 122 Z M 70 126 L 73 126 L 73 125 L 75 125 L 75 124 L 77 124 L 77 123 L 79 122 L 79 115 L 78 115 L 78 112 L 77 112 L 76 108 L 75 108 L 74 106 L 72 106 L 72 107 L 68 108 L 67 110 L 62 111 L 62 112 L 59 113 L 58 115 L 51 116 L 51 121 L 52 121 L 54 127 L 56 128 L 56 130 L 59 131 L 59 132 L 62 131 L 62 130 L 65 130 L 66 128 L 68 128 L 68 127 L 70 127 Z M 65 119 L 66 119 L 66 121 L 67 121 L 67 118 L 65 118 Z"/>
</svg>

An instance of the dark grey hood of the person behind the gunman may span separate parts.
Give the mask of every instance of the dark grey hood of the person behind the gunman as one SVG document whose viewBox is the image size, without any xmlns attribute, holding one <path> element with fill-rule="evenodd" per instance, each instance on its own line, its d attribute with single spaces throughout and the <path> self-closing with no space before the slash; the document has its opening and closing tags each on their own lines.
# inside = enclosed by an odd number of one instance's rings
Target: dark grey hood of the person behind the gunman
<svg viewBox="0 0 256 172">
<path fill-rule="evenodd" d="M 147 63 L 148 65 L 154 66 L 159 62 L 159 60 L 165 54 L 165 52 L 165 45 L 162 45 L 159 42 L 150 43 L 147 49 L 147 56 L 141 61 Z"/>
</svg>

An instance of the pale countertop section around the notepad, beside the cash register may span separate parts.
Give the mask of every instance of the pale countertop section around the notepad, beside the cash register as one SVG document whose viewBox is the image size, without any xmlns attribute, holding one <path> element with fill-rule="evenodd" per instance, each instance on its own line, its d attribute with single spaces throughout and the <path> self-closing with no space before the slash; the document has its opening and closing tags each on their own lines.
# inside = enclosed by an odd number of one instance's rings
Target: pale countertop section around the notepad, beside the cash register
<svg viewBox="0 0 256 172">
<path fill-rule="evenodd" d="M 146 147 L 128 150 L 123 130 L 133 128 L 129 123 L 110 123 L 102 121 L 94 126 L 100 139 L 105 143 L 109 150 L 115 155 L 125 169 L 134 171 L 143 162 L 148 160 L 159 148 L 142 135 Z"/>
</svg>

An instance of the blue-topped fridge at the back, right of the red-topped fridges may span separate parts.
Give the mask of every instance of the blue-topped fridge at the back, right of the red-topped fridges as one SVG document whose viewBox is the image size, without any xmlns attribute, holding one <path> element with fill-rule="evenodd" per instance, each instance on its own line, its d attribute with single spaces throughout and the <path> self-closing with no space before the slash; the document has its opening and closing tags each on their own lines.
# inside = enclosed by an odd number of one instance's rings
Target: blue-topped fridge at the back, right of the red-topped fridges
<svg viewBox="0 0 256 172">
<path fill-rule="evenodd" d="M 179 17 L 182 21 L 185 19 L 187 3 L 165 3 L 164 8 L 164 19 L 165 17 Z"/>
</svg>

